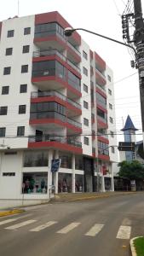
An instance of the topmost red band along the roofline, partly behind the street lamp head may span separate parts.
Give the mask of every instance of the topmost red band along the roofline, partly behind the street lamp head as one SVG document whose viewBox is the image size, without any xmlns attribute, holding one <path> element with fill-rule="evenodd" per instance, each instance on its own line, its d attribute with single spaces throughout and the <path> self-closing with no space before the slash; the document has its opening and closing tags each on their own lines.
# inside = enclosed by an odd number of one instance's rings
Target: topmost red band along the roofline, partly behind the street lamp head
<svg viewBox="0 0 144 256">
<path fill-rule="evenodd" d="M 57 11 L 35 15 L 35 25 L 49 22 L 57 22 L 63 28 L 72 27 Z M 72 38 L 78 45 L 81 44 L 81 37 L 78 32 L 73 32 Z"/>
</svg>

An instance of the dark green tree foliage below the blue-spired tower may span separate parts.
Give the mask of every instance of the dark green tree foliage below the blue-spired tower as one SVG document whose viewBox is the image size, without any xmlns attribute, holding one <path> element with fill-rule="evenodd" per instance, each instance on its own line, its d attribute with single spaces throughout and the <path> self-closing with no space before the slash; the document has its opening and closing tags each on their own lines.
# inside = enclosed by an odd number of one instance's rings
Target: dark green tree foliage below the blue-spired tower
<svg viewBox="0 0 144 256">
<path fill-rule="evenodd" d="M 118 172 L 119 177 L 125 177 L 132 179 L 144 179 L 144 167 L 137 160 L 132 162 L 122 161 L 118 163 L 120 170 Z"/>
</svg>

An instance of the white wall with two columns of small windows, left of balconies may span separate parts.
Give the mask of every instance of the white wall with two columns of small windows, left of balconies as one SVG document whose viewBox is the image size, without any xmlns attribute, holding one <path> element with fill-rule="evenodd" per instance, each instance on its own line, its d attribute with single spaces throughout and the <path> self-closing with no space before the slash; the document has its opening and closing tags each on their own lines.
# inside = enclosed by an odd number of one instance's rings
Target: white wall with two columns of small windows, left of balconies
<svg viewBox="0 0 144 256">
<path fill-rule="evenodd" d="M 31 34 L 24 35 L 25 27 L 31 27 Z M 14 37 L 7 38 L 9 30 L 14 30 Z M 29 135 L 33 36 L 34 15 L 3 21 L 0 41 L 0 90 L 2 91 L 2 86 L 9 85 L 9 95 L 1 95 L 0 107 L 8 106 L 8 114 L 1 121 L 1 127 L 6 126 L 6 137 L 16 137 L 17 126 L 25 126 L 25 134 Z M 30 45 L 29 53 L 22 53 L 24 45 Z M 12 55 L 5 55 L 7 48 L 13 48 Z M 21 73 L 22 65 L 28 65 L 28 73 Z M 9 75 L 3 75 L 4 67 L 11 67 Z M 20 84 L 27 84 L 26 93 L 20 93 Z M 19 105 L 26 105 L 26 113 L 18 113 Z M 4 138 L 4 144 L 10 148 L 27 148 L 27 141 L 27 138 Z M 0 143 L 3 143 L 2 138 Z"/>
</svg>

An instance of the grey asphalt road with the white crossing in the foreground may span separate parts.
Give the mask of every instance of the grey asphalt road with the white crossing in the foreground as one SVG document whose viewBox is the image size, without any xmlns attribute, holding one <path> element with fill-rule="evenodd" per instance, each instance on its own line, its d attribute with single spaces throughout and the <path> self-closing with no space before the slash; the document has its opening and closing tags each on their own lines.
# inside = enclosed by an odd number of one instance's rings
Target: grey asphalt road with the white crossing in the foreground
<svg viewBox="0 0 144 256">
<path fill-rule="evenodd" d="M 130 256 L 143 223 L 143 193 L 27 207 L 0 218 L 0 255 Z"/>
</svg>

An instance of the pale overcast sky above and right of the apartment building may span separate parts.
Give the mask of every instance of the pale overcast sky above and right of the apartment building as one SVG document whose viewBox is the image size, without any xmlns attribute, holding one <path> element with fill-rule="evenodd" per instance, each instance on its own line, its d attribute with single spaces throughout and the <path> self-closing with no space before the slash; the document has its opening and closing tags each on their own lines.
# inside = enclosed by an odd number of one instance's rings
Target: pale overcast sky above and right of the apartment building
<svg viewBox="0 0 144 256">
<path fill-rule="evenodd" d="M 130 0 L 131 3 L 132 1 Z M 18 15 L 18 0 L 0 0 L 0 3 L 0 20 Z M 83 27 L 123 41 L 120 15 L 123 14 L 128 0 L 19 0 L 19 3 L 20 16 L 57 10 L 73 27 Z M 144 6 L 142 8 L 144 11 Z M 131 57 L 128 49 L 86 32 L 79 33 L 90 48 L 101 55 L 112 68 L 117 132 L 123 128 L 123 122 L 130 114 L 135 127 L 140 129 L 138 133 L 141 133 L 138 74 L 137 70 L 130 67 Z M 123 139 L 122 136 L 118 136 L 119 141 Z M 141 139 L 141 136 L 137 136 L 137 139 Z"/>
</svg>

